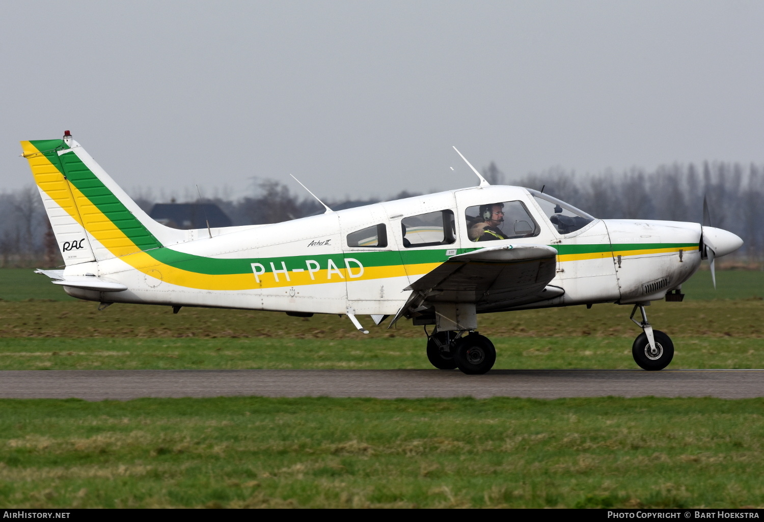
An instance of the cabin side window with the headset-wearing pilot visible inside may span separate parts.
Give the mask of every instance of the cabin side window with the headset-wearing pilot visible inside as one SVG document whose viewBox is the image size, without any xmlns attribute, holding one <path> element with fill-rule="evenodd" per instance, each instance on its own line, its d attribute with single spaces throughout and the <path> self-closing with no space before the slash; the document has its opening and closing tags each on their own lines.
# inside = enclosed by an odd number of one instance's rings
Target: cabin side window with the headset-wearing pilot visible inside
<svg viewBox="0 0 764 522">
<path fill-rule="evenodd" d="M 498 201 L 469 207 L 465 212 L 467 237 L 474 242 L 539 235 L 539 224 L 522 201 Z"/>
</svg>

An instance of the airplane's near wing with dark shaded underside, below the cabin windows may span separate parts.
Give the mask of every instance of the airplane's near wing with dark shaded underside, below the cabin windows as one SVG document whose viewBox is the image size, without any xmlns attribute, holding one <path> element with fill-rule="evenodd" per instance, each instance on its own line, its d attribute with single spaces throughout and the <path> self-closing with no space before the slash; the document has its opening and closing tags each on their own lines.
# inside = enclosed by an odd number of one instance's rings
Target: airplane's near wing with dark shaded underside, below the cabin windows
<svg viewBox="0 0 764 522">
<path fill-rule="evenodd" d="M 565 293 L 548 286 L 555 277 L 557 250 L 546 245 L 482 248 L 448 258 L 407 290 L 409 300 L 390 324 L 435 303 L 475 303 L 478 312 L 499 310 Z"/>
</svg>

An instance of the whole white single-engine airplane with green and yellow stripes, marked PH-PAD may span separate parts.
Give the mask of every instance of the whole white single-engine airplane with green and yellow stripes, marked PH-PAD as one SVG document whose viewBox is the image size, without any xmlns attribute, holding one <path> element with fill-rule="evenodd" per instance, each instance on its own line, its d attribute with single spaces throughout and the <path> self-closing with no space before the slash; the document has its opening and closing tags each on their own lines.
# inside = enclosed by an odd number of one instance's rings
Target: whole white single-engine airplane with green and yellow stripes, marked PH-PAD
<svg viewBox="0 0 764 522">
<path fill-rule="evenodd" d="M 73 140 L 22 141 L 66 267 L 38 270 L 67 294 L 112 303 L 393 316 L 434 325 L 439 369 L 482 374 L 496 360 L 478 314 L 594 303 L 633 304 L 632 353 L 671 362 L 650 301 L 681 301 L 701 259 L 743 240 L 698 223 L 596 219 L 529 188 L 480 185 L 284 223 L 176 230 L 157 223 Z M 457 150 L 458 153 L 458 150 Z M 324 205 L 325 206 L 325 205 Z M 704 221 L 707 219 L 704 205 Z M 715 279 L 714 279 L 715 285 Z M 634 314 L 641 312 L 641 321 Z M 465 335 L 466 334 L 466 335 Z"/>
</svg>

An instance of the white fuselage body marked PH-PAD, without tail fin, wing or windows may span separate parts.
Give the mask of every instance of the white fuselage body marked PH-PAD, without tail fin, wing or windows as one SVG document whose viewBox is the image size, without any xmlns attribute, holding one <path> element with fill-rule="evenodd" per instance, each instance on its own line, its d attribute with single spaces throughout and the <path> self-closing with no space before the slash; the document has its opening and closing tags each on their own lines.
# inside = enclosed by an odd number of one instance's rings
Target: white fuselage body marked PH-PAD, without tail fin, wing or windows
<svg viewBox="0 0 764 522">
<path fill-rule="evenodd" d="M 490 243 L 471 241 L 465 211 L 491 201 L 522 201 L 538 224 L 538 233 Z M 453 242 L 407 247 L 401 221 L 443 210 L 455 216 Z M 348 234 L 375 225 L 387 230 L 386 246 L 348 246 Z M 172 260 L 157 261 L 155 266 L 143 263 L 136 268 L 125 256 L 67 266 L 64 272 L 119 282 L 128 287 L 125 292 L 65 287 L 66 291 L 104 302 L 395 314 L 410 295 L 406 287 L 449 256 L 484 246 L 528 243 L 558 250 L 557 272 L 550 285 L 565 291 L 551 300 L 517 307 L 537 308 L 661 299 L 701 263 L 700 224 L 595 220 L 572 234 L 559 234 L 533 195 L 510 186 L 464 188 L 284 223 L 219 229 L 212 238 L 206 233 L 189 233 L 199 239 L 166 246 L 174 251 Z M 225 271 L 233 270 L 226 267 L 241 259 L 251 268 L 246 275 L 239 269 L 236 279 Z M 187 275 L 195 274 L 193 270 L 204 273 L 198 278 Z M 249 281 L 251 285 L 246 284 Z M 478 311 L 490 310 L 478 307 Z"/>
</svg>

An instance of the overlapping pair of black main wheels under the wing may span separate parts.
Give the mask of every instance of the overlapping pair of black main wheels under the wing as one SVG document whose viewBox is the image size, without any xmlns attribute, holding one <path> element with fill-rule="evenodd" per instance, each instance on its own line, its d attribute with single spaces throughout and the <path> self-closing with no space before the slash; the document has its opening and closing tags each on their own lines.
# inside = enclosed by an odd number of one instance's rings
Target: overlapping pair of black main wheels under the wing
<svg viewBox="0 0 764 522">
<path fill-rule="evenodd" d="M 427 333 L 427 328 L 425 328 Z M 496 348 L 476 331 L 435 330 L 427 335 L 427 359 L 438 369 L 458 368 L 468 375 L 482 375 L 494 367 Z"/>
</svg>

